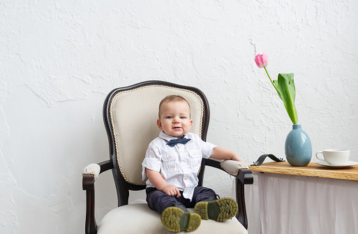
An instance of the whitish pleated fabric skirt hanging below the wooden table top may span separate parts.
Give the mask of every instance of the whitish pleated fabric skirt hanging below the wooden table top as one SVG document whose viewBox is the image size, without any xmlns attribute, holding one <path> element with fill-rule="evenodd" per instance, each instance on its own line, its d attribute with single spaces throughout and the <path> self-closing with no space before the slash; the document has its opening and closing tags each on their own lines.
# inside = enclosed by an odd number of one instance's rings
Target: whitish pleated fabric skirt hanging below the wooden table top
<svg viewBox="0 0 358 234">
<path fill-rule="evenodd" d="M 262 233 L 358 233 L 358 181 L 255 174 Z"/>
</svg>

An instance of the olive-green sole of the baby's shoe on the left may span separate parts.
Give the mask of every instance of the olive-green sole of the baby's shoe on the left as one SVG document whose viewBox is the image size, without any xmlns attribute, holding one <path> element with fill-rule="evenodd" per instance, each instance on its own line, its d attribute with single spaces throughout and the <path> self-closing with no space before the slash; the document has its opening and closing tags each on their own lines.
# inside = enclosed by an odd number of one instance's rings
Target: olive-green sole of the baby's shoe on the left
<svg viewBox="0 0 358 234">
<path fill-rule="evenodd" d="M 195 231 L 201 223 L 199 214 L 184 212 L 178 207 L 167 207 L 161 220 L 163 226 L 171 232 Z"/>
</svg>

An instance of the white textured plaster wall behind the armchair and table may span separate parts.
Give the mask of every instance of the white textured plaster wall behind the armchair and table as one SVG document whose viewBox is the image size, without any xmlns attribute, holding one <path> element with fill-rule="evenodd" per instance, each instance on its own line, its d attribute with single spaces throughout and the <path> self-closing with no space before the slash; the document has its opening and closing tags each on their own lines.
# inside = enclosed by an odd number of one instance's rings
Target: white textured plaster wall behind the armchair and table
<svg viewBox="0 0 358 234">
<path fill-rule="evenodd" d="M 248 163 L 283 156 L 291 122 L 253 61 L 262 52 L 272 78 L 294 73 L 313 152 L 349 148 L 357 161 L 357 10 L 355 0 L 1 1 L 0 232 L 83 233 L 81 171 L 108 158 L 101 109 L 115 87 L 200 87 L 210 142 Z M 227 175 L 207 174 L 231 194 Z M 111 176 L 96 185 L 98 219 L 116 206 Z"/>
</svg>

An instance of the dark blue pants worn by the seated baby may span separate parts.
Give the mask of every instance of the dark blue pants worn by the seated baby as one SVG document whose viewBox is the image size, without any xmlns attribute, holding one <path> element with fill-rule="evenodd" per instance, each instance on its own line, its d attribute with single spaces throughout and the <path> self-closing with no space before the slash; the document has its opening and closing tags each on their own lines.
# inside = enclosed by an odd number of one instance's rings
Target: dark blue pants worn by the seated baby
<svg viewBox="0 0 358 234">
<path fill-rule="evenodd" d="M 152 210 L 159 212 L 159 214 L 161 214 L 166 207 L 174 204 L 181 204 L 187 208 L 191 208 L 203 198 L 216 197 L 215 191 L 206 187 L 195 187 L 192 200 L 184 198 L 183 191 L 180 191 L 181 196 L 179 196 L 179 198 L 176 196 L 169 196 L 156 188 L 147 188 L 146 193 L 149 207 Z"/>
</svg>

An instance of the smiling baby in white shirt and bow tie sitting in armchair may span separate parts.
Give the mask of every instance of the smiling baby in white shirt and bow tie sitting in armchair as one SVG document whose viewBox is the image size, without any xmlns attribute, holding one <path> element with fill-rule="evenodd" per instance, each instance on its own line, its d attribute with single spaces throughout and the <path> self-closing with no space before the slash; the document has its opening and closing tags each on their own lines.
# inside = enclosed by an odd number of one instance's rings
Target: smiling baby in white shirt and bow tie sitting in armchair
<svg viewBox="0 0 358 234">
<path fill-rule="evenodd" d="M 198 187 L 197 173 L 202 158 L 241 161 L 229 149 L 204 142 L 194 133 L 191 108 L 182 96 L 166 96 L 159 104 L 159 137 L 147 149 L 143 180 L 147 180 L 147 203 L 161 214 L 161 221 L 172 232 L 195 231 L 201 219 L 225 221 L 237 213 L 232 198 L 218 198 L 215 191 Z M 194 207 L 194 212 L 186 208 Z"/>
</svg>

